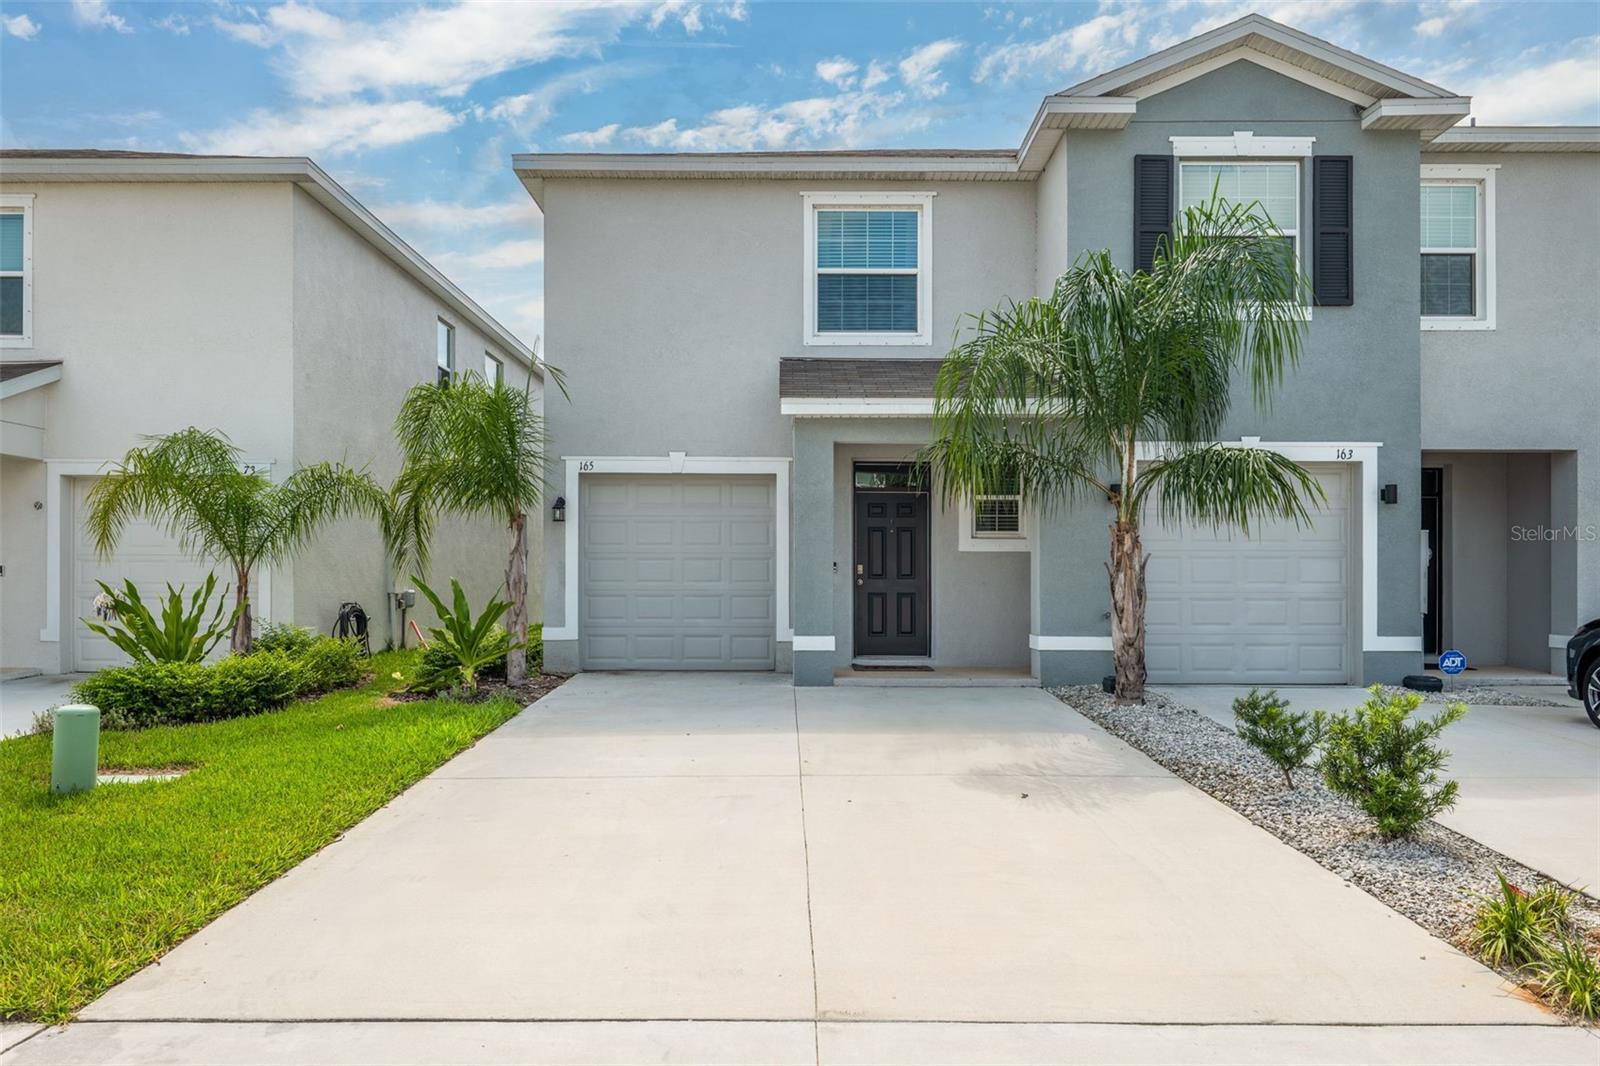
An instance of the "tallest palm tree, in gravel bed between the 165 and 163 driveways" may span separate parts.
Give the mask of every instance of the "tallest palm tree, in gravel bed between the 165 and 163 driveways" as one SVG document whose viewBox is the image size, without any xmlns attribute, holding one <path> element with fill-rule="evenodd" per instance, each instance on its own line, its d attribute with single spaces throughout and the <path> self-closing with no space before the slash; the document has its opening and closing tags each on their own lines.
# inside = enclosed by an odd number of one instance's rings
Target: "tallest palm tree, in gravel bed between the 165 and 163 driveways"
<svg viewBox="0 0 1600 1066">
<path fill-rule="evenodd" d="M 925 450 L 949 498 L 1107 499 L 1117 699 L 1144 698 L 1146 507 L 1163 523 L 1309 522 L 1322 487 L 1290 459 L 1214 443 L 1235 371 L 1267 407 L 1299 362 L 1306 277 L 1258 205 L 1176 219 L 1149 271 L 1088 251 L 1048 299 L 974 315 L 934 386 Z"/>
</svg>

